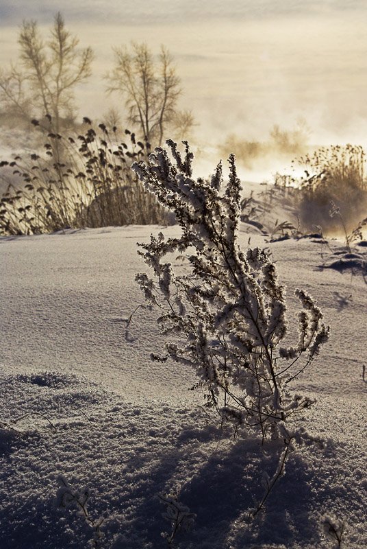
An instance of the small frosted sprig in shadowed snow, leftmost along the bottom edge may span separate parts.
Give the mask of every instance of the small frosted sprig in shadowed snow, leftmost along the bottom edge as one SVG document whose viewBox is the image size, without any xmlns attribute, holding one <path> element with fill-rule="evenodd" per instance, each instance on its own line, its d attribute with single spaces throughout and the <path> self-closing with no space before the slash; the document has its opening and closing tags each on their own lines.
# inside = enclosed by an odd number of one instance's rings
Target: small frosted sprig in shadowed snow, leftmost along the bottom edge
<svg viewBox="0 0 367 549">
<path fill-rule="evenodd" d="M 87 503 L 90 497 L 89 490 L 84 488 L 80 490 L 74 490 L 64 476 L 58 477 L 59 489 L 56 494 L 56 505 L 60 508 L 66 509 L 67 507 L 75 507 L 77 513 L 84 518 L 88 526 L 92 528 L 92 538 L 90 544 L 94 549 L 101 547 L 101 541 L 103 539 L 103 533 L 101 526 L 104 518 L 99 517 L 97 520 L 93 520 L 87 509 Z"/>
</svg>

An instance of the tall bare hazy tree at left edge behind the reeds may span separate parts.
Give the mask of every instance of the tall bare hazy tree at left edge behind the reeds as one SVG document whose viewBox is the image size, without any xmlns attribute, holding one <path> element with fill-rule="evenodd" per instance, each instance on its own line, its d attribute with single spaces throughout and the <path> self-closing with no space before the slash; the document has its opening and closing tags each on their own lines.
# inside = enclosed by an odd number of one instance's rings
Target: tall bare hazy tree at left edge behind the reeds
<svg viewBox="0 0 367 549">
<path fill-rule="evenodd" d="M 18 63 L 0 71 L 0 104 L 28 120 L 49 115 L 47 129 L 58 133 L 74 117 L 73 92 L 90 76 L 92 49 L 78 51 L 79 39 L 66 30 L 60 12 L 47 43 L 36 21 L 24 21 L 18 44 Z"/>
</svg>

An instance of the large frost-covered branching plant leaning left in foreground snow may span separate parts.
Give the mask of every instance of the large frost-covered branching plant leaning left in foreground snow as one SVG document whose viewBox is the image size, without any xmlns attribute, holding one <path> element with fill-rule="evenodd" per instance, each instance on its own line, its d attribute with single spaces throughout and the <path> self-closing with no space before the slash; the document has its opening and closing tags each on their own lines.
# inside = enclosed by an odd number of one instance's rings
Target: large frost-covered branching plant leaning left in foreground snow
<svg viewBox="0 0 367 549">
<path fill-rule="evenodd" d="M 224 185 L 221 163 L 211 180 L 195 180 L 188 143 L 184 156 L 176 143 L 166 143 L 173 161 L 156 148 L 148 164 L 133 165 L 181 226 L 177 238 L 160 233 L 140 244 L 153 277 L 136 279 L 147 302 L 160 308 L 158 322 L 170 338 L 164 356 L 151 356 L 192 366 L 207 406 L 222 421 L 259 432 L 263 442 L 282 439 L 279 424 L 311 404 L 291 393 L 289 383 L 317 355 L 329 327 L 312 297 L 296 290 L 302 310 L 298 338 L 289 344 L 285 289 L 275 264 L 266 250 L 244 251 L 238 244 L 242 189 L 233 154 Z M 186 257 L 186 272 L 175 272 L 170 255 Z"/>
</svg>

